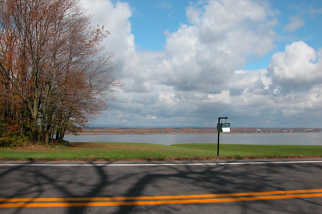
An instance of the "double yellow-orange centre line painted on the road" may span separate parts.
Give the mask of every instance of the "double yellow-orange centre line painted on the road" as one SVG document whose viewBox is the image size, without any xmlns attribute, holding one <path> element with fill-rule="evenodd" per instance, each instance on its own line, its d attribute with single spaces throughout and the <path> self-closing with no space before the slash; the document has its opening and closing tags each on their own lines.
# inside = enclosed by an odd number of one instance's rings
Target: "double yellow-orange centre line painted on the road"
<svg viewBox="0 0 322 214">
<path fill-rule="evenodd" d="M 0 208 L 213 203 L 225 201 L 269 200 L 296 197 L 322 197 L 322 189 L 139 197 L 0 198 Z"/>
</svg>

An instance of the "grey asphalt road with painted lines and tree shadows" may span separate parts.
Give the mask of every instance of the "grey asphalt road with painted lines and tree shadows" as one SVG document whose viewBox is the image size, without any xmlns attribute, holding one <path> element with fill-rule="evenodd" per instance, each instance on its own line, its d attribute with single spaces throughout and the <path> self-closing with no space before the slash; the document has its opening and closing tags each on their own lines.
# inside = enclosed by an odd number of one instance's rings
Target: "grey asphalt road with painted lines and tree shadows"
<svg viewBox="0 0 322 214">
<path fill-rule="evenodd" d="M 0 162 L 1 213 L 322 213 L 322 159 Z"/>
</svg>

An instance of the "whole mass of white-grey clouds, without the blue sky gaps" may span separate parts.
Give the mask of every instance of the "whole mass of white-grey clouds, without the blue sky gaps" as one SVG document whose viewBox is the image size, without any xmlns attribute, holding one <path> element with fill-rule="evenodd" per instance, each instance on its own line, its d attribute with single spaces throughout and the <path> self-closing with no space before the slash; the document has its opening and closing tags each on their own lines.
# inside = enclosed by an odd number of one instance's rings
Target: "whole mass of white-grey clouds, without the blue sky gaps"
<svg viewBox="0 0 322 214">
<path fill-rule="evenodd" d="M 163 51 L 137 51 L 128 4 L 83 2 L 95 14 L 94 23 L 111 31 L 106 46 L 119 65 L 115 75 L 126 83 L 97 124 L 215 126 L 219 116 L 227 116 L 234 126 L 280 126 L 281 119 L 293 126 L 294 118 L 309 116 L 303 112 L 321 115 L 321 50 L 297 41 L 273 54 L 267 68 L 240 69 L 275 48 L 278 20 L 269 5 L 191 4 L 189 22 L 165 33 Z M 288 30 L 303 25 L 295 18 L 291 23 Z"/>
</svg>

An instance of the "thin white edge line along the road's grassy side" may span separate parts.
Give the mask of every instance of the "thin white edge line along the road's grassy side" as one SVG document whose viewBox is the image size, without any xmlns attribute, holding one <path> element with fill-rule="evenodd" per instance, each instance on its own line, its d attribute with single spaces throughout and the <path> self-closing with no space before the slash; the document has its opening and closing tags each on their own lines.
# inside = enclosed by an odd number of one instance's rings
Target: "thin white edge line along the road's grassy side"
<svg viewBox="0 0 322 214">
<path fill-rule="evenodd" d="M 272 161 L 272 162 L 229 162 L 229 163 L 149 163 L 149 164 L 0 164 L 0 166 L 194 166 L 194 165 L 245 165 L 245 164 L 297 164 L 297 163 L 321 163 L 321 161 Z"/>
</svg>

